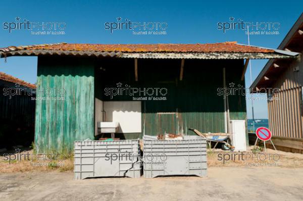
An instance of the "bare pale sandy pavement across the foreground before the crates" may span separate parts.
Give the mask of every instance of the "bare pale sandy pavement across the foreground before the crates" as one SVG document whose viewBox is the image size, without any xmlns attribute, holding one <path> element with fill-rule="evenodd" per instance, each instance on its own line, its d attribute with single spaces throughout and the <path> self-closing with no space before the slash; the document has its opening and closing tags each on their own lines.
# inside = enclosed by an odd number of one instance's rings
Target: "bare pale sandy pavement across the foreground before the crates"
<svg viewBox="0 0 303 201">
<path fill-rule="evenodd" d="M 0 200 L 302 200 L 303 169 L 211 167 L 208 177 L 92 178 L 0 174 Z"/>
</svg>

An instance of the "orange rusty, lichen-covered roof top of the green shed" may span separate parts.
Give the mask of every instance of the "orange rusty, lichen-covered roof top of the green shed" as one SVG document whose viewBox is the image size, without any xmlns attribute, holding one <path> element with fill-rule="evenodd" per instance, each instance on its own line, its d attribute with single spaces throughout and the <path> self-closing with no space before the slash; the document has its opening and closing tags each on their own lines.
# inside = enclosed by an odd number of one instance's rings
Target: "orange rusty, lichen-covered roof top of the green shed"
<svg viewBox="0 0 303 201">
<path fill-rule="evenodd" d="M 236 42 L 206 44 L 71 44 L 55 43 L 0 48 L 1 52 L 22 50 L 121 52 L 121 53 L 274 53 L 273 49 L 237 44 Z"/>
</svg>

